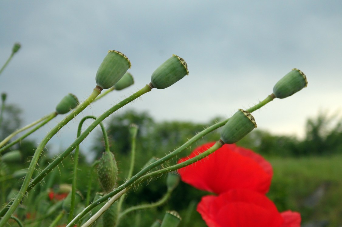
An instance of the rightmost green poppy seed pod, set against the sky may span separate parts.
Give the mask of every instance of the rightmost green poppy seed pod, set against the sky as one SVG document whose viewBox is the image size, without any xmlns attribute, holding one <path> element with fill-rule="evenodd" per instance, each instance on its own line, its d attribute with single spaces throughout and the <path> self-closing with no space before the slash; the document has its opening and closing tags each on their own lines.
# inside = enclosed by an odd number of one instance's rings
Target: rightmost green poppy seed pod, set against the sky
<svg viewBox="0 0 342 227">
<path fill-rule="evenodd" d="M 273 94 L 278 99 L 284 99 L 297 91 L 302 90 L 306 86 L 307 79 L 305 74 L 299 69 L 292 69 L 291 72 L 281 78 L 273 87 Z"/>
</svg>

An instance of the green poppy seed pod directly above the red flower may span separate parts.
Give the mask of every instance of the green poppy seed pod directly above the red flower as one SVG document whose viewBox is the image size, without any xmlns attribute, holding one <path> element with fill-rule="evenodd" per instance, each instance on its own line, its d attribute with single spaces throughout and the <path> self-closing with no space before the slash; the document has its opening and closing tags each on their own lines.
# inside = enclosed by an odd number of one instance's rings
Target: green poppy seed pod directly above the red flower
<svg viewBox="0 0 342 227">
<path fill-rule="evenodd" d="M 251 113 L 239 109 L 223 126 L 221 140 L 228 144 L 236 143 L 256 127 L 257 123 Z"/>
</svg>

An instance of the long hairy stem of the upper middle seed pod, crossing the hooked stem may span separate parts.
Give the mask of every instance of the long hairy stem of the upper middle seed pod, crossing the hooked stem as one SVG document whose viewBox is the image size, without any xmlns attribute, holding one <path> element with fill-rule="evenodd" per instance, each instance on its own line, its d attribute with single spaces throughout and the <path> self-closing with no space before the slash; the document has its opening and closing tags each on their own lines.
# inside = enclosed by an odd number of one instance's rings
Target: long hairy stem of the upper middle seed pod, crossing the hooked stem
<svg viewBox="0 0 342 227">
<path fill-rule="evenodd" d="M 98 117 L 92 124 L 88 126 L 86 130 L 81 134 L 80 137 L 78 137 L 62 154 L 60 154 L 58 157 L 55 158 L 55 160 L 50 163 L 44 170 L 42 170 L 36 177 L 29 183 L 29 187 L 26 187 L 26 192 L 29 192 L 37 183 L 39 183 L 54 167 L 56 167 L 59 163 L 61 163 L 65 157 L 67 157 L 75 148 L 78 146 L 84 138 L 86 138 L 90 132 L 98 125 L 100 122 L 102 122 L 104 119 L 106 119 L 108 116 L 110 116 L 112 113 L 114 113 L 116 110 L 122 108 L 123 106 L 127 105 L 128 103 L 132 102 L 133 100 L 137 99 L 141 95 L 151 91 L 151 87 L 149 85 L 146 85 L 144 88 L 141 90 L 135 92 L 131 96 L 127 97 L 123 101 L 119 102 L 115 106 L 111 107 L 108 109 L 106 112 L 104 112 L 100 117 Z M 78 109 L 78 108 L 77 108 Z M 26 179 L 25 179 L 26 180 Z M 24 181 L 25 183 L 25 181 Z M 25 192 L 24 192 L 25 193 Z M 25 194 L 22 194 L 21 196 L 23 197 Z M 4 215 L 5 212 L 8 212 L 9 209 L 12 209 L 11 212 L 15 210 L 15 208 L 12 208 L 12 204 L 14 202 L 9 202 L 5 208 L 3 208 L 0 211 L 0 217 Z M 16 204 L 18 206 L 18 204 Z M 1 222 L 0 222 L 1 226 Z"/>
</svg>

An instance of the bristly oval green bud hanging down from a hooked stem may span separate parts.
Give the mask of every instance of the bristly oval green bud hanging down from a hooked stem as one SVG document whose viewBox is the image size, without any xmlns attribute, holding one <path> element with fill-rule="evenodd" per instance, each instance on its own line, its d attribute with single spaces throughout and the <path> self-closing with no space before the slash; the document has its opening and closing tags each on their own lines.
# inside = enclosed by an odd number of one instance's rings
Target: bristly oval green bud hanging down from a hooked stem
<svg viewBox="0 0 342 227">
<path fill-rule="evenodd" d="M 118 180 L 118 167 L 112 152 L 103 152 L 97 165 L 97 175 L 103 191 L 112 191 Z"/>
</svg>

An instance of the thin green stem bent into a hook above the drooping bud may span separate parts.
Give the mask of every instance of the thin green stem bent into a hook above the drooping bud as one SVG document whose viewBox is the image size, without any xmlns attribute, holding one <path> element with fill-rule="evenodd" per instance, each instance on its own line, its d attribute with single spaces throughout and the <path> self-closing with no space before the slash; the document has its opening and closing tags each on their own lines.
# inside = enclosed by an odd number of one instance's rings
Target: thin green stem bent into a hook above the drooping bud
<svg viewBox="0 0 342 227">
<path fill-rule="evenodd" d="M 82 130 L 82 125 L 84 123 L 84 121 L 86 121 L 87 119 L 95 119 L 96 117 L 94 116 L 86 116 L 84 118 L 81 119 L 80 123 L 78 124 L 78 129 L 77 129 L 77 136 L 76 138 L 78 138 L 81 135 L 81 130 Z M 105 127 L 103 126 L 102 123 L 100 123 L 102 132 L 103 132 L 103 136 L 105 138 L 105 144 L 106 147 L 108 147 L 109 150 L 109 143 L 108 143 L 108 136 L 107 136 L 107 132 Z M 68 222 L 70 222 L 74 216 L 74 210 L 75 210 L 75 195 L 76 195 L 76 184 L 77 184 L 77 167 L 78 167 L 78 153 L 79 153 L 79 145 L 76 147 L 75 149 L 75 155 L 74 155 L 74 170 L 73 170 L 73 184 L 71 187 L 71 201 L 70 201 L 70 211 L 69 211 L 69 218 L 68 218 Z"/>
</svg>

